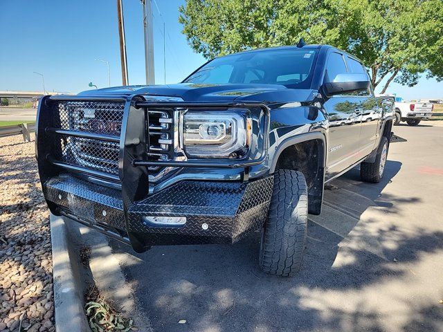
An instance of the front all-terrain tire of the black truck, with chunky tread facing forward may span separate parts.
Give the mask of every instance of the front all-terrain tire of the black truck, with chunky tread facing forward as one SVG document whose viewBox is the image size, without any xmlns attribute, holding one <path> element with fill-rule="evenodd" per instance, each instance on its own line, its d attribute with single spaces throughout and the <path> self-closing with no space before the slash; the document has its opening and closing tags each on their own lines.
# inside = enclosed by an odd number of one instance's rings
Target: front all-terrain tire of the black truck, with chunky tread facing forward
<svg viewBox="0 0 443 332">
<path fill-rule="evenodd" d="M 262 230 L 260 268 L 288 277 L 300 270 L 307 234 L 307 185 L 302 172 L 280 169 Z"/>
</svg>

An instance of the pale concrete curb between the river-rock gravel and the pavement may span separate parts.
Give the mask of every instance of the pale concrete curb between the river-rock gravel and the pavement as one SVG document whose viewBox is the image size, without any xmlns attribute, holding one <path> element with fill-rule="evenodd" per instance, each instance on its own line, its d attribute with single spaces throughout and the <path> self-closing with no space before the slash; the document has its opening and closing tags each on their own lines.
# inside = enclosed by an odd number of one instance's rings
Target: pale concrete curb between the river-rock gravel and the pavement
<svg viewBox="0 0 443 332">
<path fill-rule="evenodd" d="M 78 255 L 69 241 L 64 219 L 51 214 L 51 243 L 53 250 L 53 279 L 55 330 L 57 332 L 87 332 L 89 324 L 84 315 L 84 288 Z"/>
</svg>

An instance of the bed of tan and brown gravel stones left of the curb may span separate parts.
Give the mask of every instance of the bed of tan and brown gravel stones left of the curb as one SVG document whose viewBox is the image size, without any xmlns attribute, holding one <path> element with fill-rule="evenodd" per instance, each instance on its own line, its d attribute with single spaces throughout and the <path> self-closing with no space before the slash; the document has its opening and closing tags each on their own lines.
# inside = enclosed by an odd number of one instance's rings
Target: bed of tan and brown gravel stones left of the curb
<svg viewBox="0 0 443 332">
<path fill-rule="evenodd" d="M 0 332 L 55 331 L 49 212 L 34 142 L 0 138 Z"/>
</svg>

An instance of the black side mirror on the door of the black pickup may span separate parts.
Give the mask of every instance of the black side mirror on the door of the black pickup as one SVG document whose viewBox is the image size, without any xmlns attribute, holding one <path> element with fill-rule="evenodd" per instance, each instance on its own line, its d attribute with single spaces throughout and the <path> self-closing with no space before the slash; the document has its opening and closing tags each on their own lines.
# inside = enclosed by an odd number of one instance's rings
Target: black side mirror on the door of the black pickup
<svg viewBox="0 0 443 332">
<path fill-rule="evenodd" d="M 368 90 L 370 81 L 365 74 L 343 73 L 338 74 L 333 82 L 323 84 L 323 92 L 327 97 L 341 95 L 355 91 Z"/>
</svg>

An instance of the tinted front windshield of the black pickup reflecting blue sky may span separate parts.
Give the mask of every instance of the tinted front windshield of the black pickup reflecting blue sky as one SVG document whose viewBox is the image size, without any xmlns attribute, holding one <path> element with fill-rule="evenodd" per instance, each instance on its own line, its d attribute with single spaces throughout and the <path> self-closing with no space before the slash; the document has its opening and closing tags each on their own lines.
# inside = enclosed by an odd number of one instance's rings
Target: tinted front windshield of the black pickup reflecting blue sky
<svg viewBox="0 0 443 332">
<path fill-rule="evenodd" d="M 217 57 L 183 82 L 282 84 L 309 89 L 316 50 L 262 50 Z"/>
</svg>

